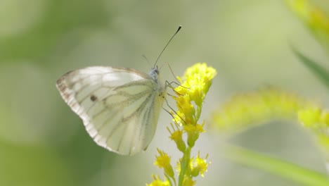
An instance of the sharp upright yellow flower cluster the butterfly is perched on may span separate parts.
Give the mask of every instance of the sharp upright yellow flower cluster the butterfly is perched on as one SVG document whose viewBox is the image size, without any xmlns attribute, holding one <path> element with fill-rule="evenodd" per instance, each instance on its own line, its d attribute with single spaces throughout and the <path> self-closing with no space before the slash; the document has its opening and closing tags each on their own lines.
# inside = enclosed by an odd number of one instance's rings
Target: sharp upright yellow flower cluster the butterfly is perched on
<svg viewBox="0 0 329 186">
<path fill-rule="evenodd" d="M 191 149 L 194 147 L 195 141 L 198 140 L 200 133 L 205 132 L 203 129 L 205 123 L 199 124 L 198 120 L 205 95 L 216 74 L 214 68 L 208 67 L 205 63 L 197 63 L 188 68 L 183 77 L 178 77 L 181 85 L 174 88 L 176 96 L 173 96 L 173 98 L 178 109 L 172 112 L 174 124 L 171 123 L 171 128 L 167 128 L 167 130 L 170 133 L 169 138 L 176 143 L 177 149 L 183 153 L 182 158 L 177 162 L 179 186 L 195 185 L 195 177 L 198 175 L 203 177 L 209 166 L 207 156 L 203 159 L 198 153 L 198 156 L 191 158 Z M 187 135 L 186 141 L 184 141 L 184 134 Z M 170 185 L 172 185 L 172 182 L 177 185 L 170 164 L 170 157 L 164 151 L 159 149 L 157 151 L 159 156 L 156 156 L 155 165 L 164 169 L 164 176 Z M 161 182 L 160 179 L 154 180 Z"/>
</svg>

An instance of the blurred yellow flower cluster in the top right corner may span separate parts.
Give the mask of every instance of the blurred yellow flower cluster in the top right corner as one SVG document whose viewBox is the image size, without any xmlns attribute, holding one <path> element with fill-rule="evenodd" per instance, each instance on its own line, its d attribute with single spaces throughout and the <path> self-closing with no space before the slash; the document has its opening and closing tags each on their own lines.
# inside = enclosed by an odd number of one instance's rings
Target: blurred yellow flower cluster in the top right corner
<svg viewBox="0 0 329 186">
<path fill-rule="evenodd" d="M 288 6 L 329 50 L 329 16 L 307 0 L 286 0 Z"/>
</svg>

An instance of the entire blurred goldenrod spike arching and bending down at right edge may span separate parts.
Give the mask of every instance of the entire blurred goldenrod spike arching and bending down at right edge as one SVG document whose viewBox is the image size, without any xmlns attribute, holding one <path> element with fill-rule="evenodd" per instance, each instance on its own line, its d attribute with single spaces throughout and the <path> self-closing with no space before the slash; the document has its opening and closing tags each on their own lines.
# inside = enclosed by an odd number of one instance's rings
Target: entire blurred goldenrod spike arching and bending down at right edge
<svg viewBox="0 0 329 186">
<path fill-rule="evenodd" d="M 297 120 L 316 138 L 329 172 L 329 111 L 313 101 L 280 89 L 262 89 L 233 97 L 214 112 L 213 118 L 221 132 L 250 128 L 277 118 Z"/>
</svg>

